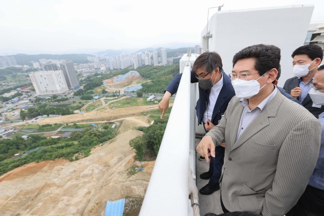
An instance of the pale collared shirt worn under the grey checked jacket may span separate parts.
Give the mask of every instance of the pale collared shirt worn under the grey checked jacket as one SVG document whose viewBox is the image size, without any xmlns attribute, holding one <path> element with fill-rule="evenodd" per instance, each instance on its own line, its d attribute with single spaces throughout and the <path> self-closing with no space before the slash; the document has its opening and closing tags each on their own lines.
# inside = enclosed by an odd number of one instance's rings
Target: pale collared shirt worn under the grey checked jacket
<svg viewBox="0 0 324 216">
<path fill-rule="evenodd" d="M 241 115 L 241 120 L 239 121 L 238 131 L 236 140 L 241 136 L 243 132 L 245 132 L 246 128 L 250 125 L 250 123 L 260 114 L 263 108 L 270 103 L 270 101 L 274 98 L 277 94 L 277 88 L 275 87 L 274 90 L 268 97 L 266 97 L 261 103 L 256 106 L 254 109 L 250 110 L 249 108 L 249 101 L 248 99 L 241 98 L 239 103 L 244 107 L 244 110 Z"/>
</svg>

